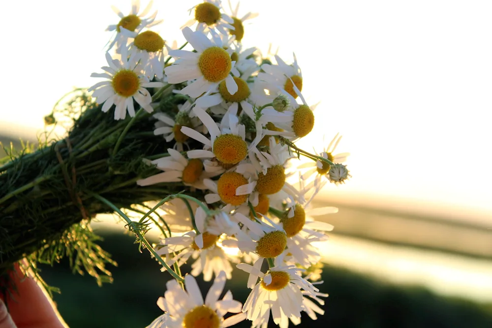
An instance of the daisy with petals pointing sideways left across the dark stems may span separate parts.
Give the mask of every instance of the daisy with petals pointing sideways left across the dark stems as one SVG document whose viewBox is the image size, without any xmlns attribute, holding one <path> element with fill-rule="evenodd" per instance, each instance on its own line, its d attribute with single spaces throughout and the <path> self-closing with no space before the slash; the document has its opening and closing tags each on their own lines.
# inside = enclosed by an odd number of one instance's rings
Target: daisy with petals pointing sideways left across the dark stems
<svg viewBox="0 0 492 328">
<path fill-rule="evenodd" d="M 197 189 L 207 189 L 203 179 L 210 178 L 211 174 L 203 170 L 203 163 L 198 158 L 187 159 L 179 151 L 168 148 L 169 156 L 151 161 L 163 173 L 137 180 L 140 186 L 148 186 L 162 182 L 183 182 L 186 186 Z"/>
</svg>

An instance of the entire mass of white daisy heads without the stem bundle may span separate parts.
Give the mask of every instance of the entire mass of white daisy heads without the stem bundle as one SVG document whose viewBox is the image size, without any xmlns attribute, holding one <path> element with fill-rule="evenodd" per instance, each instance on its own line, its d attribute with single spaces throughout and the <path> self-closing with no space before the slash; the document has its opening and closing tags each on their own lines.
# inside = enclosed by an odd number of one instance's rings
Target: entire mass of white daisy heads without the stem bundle
<svg viewBox="0 0 492 328">
<path fill-rule="evenodd" d="M 152 113 L 154 134 L 172 145 L 148 163 L 161 172 L 138 185 L 182 183 L 203 195 L 160 208 L 172 234 L 155 252 L 178 278 L 167 283 L 157 301 L 164 313 L 149 327 L 219 328 L 246 319 L 266 327 L 270 316 L 287 327 L 303 311 L 312 319 L 324 312 L 319 305 L 327 295 L 315 287 L 321 283 L 316 243 L 333 227 L 314 217 L 337 209 L 313 209 L 310 202 L 328 182 L 350 177 L 342 164 L 348 154 L 334 154 L 338 135 L 314 154 L 295 146 L 311 132 L 315 107 L 303 97 L 297 59 L 265 59 L 243 47 L 244 22 L 256 15 L 239 18 L 238 6 L 229 7 L 230 15 L 220 0 L 191 8 L 180 48 L 150 30 L 160 23 L 152 2 L 141 11 L 133 1 L 126 16 L 113 8 L 120 21 L 108 27 L 114 33 L 108 66 L 92 74 L 106 79 L 90 88 L 103 112 L 114 111 L 115 119 Z M 161 107 L 162 97 L 182 101 L 170 110 Z M 233 267 L 249 274 L 244 305 L 230 291 L 219 299 Z M 195 280 L 200 274 L 214 278 L 205 300 Z"/>
</svg>

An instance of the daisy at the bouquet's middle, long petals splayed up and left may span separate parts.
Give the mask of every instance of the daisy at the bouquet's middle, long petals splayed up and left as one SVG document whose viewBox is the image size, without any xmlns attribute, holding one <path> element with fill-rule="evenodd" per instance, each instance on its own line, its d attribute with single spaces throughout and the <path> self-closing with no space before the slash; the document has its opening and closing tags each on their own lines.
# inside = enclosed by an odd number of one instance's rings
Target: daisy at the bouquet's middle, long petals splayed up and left
<svg viewBox="0 0 492 328">
<path fill-rule="evenodd" d="M 181 132 L 205 145 L 211 150 L 190 150 L 188 151 L 189 158 L 216 158 L 222 164 L 235 165 L 246 158 L 250 149 L 261 139 L 261 133 L 257 133 L 256 138 L 247 145 L 245 126 L 239 124 L 237 116 L 229 115 L 229 128 L 219 129 L 214 119 L 200 107 L 194 107 L 193 112 L 207 127 L 210 134 L 210 139 L 203 134 L 195 131 L 187 126 L 181 128 Z M 261 123 L 257 122 L 258 131 L 261 131 Z"/>
</svg>

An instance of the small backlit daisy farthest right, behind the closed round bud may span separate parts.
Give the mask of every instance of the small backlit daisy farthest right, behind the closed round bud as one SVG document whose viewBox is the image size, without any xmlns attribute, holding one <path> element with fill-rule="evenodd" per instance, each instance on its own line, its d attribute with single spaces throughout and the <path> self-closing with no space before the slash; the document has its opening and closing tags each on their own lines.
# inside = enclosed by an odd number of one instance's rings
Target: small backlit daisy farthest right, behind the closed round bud
<svg viewBox="0 0 492 328">
<path fill-rule="evenodd" d="M 324 143 L 324 136 L 323 136 L 323 143 Z M 339 133 L 333 138 L 333 140 L 328 144 L 327 147 L 323 149 L 323 151 L 316 153 L 316 155 L 321 156 L 323 158 L 328 159 L 329 161 L 333 163 L 343 163 L 347 160 L 347 157 L 350 155 L 349 152 L 343 152 L 339 154 L 333 154 L 335 152 L 335 149 L 338 146 L 338 143 L 341 140 L 341 136 Z M 330 179 L 330 164 L 325 163 L 320 161 L 319 159 L 316 160 L 316 162 L 310 161 L 305 164 L 301 164 L 297 167 L 298 169 L 306 169 L 307 172 L 305 172 L 302 175 L 302 179 L 304 180 L 310 180 L 312 177 L 314 177 L 315 180 L 318 180 L 317 183 L 320 183 L 320 180 L 322 177 L 326 177 L 326 179 Z"/>
</svg>

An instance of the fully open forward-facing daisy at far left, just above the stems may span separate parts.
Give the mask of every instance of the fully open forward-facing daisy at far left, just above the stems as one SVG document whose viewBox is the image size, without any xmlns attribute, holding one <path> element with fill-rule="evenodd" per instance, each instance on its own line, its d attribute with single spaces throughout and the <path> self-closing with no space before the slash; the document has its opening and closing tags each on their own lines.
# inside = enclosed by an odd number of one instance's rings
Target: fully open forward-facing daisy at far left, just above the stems
<svg viewBox="0 0 492 328">
<path fill-rule="evenodd" d="M 106 61 L 109 66 L 102 67 L 106 73 L 92 73 L 92 77 L 106 78 L 108 81 L 96 83 L 88 91 L 94 91 L 92 96 L 99 104 L 104 103 L 102 111 L 106 113 L 113 105 L 116 105 L 115 119 L 124 119 L 126 111 L 130 117 L 135 116 L 133 99 L 147 112 L 154 110 L 151 106 L 152 97 L 145 88 L 162 87 L 161 82 L 149 82 L 145 76 L 140 75 L 137 63 L 140 55 L 131 56 L 128 60 L 113 60 L 106 53 Z"/>
</svg>

